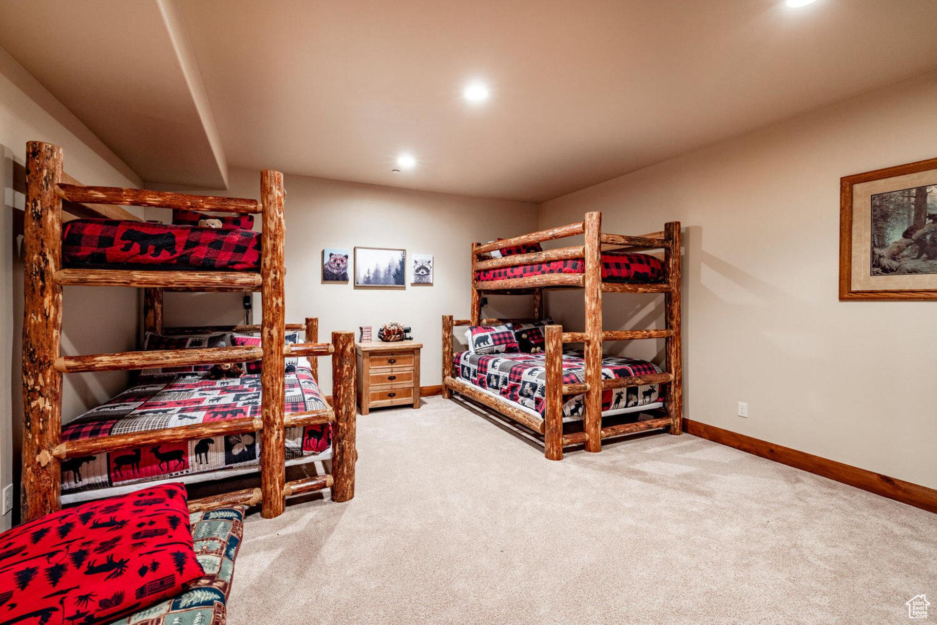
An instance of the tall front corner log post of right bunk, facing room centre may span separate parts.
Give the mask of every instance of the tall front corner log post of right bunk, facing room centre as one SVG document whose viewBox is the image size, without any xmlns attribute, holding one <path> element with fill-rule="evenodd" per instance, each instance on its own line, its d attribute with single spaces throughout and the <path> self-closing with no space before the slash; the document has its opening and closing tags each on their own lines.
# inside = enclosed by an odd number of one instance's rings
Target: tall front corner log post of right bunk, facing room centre
<svg viewBox="0 0 937 625">
<path fill-rule="evenodd" d="M 586 214 L 586 451 L 602 451 L 602 213 Z"/>
</svg>

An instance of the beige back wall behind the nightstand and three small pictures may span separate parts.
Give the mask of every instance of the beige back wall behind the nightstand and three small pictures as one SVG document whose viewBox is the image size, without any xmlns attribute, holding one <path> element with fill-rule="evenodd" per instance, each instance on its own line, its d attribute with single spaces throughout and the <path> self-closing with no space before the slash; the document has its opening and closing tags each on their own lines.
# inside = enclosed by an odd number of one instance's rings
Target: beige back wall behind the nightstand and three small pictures
<svg viewBox="0 0 937 625">
<path fill-rule="evenodd" d="M 225 194 L 257 198 L 258 171 L 231 170 Z M 421 383 L 441 382 L 441 316 L 468 317 L 470 300 L 468 246 L 536 230 L 533 204 L 485 200 L 410 191 L 390 186 L 288 175 L 286 203 L 287 320 L 320 318 L 320 338 L 335 330 L 377 328 L 389 320 L 413 329 L 424 344 Z M 161 188 L 165 188 L 160 186 Z M 215 191 L 216 192 L 216 191 Z M 166 218 L 148 210 L 147 218 Z M 255 228 L 260 230 L 259 224 Z M 354 246 L 402 247 L 408 252 L 406 290 L 354 289 L 351 284 L 321 284 L 323 247 L 352 250 Z M 431 287 L 409 285 L 409 255 L 432 254 Z M 353 252 L 352 259 L 353 263 Z M 528 297 L 492 299 L 486 312 L 528 316 Z M 255 297 L 260 306 L 260 297 Z M 168 325 L 236 323 L 243 319 L 241 296 L 232 294 L 170 293 L 166 297 Z M 260 320 L 260 316 L 256 317 Z M 356 336 L 357 337 L 357 336 Z M 322 361 L 320 382 L 329 393 L 331 369 Z"/>
</svg>

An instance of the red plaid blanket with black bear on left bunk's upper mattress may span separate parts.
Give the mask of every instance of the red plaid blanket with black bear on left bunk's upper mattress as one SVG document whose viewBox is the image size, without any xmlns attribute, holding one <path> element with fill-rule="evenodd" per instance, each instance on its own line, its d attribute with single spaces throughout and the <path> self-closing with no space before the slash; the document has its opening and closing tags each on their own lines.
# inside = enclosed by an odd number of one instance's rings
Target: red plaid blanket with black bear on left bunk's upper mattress
<svg viewBox="0 0 937 625">
<path fill-rule="evenodd" d="M 65 224 L 62 238 L 66 263 L 260 268 L 260 232 L 255 231 L 76 219 Z"/>
</svg>

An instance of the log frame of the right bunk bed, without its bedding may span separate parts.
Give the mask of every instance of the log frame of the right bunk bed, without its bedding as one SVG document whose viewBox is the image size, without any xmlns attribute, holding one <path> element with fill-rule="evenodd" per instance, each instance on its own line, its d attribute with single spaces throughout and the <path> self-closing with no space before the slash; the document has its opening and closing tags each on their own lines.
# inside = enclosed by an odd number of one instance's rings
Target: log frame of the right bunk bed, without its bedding
<svg viewBox="0 0 937 625">
<path fill-rule="evenodd" d="M 555 239 L 585 235 L 582 246 L 558 247 L 541 252 L 488 258 L 488 253 L 503 247 L 541 243 Z M 605 251 L 645 251 L 662 249 L 664 282 L 623 284 L 602 281 L 602 249 Z M 484 256 L 483 256 L 484 255 Z M 584 259 L 582 274 L 544 274 L 503 280 L 476 280 L 476 272 L 484 269 L 513 267 L 549 260 Z M 624 236 L 602 232 L 602 213 L 587 213 L 583 221 L 558 228 L 522 234 L 487 244 L 471 246 L 471 315 L 468 320 L 442 318 L 442 396 L 453 392 L 463 394 L 501 414 L 524 424 L 543 435 L 544 454 L 550 460 L 562 460 L 563 447 L 585 443 L 587 452 L 602 451 L 602 439 L 633 434 L 650 429 L 664 429 L 671 434 L 682 433 L 683 382 L 680 362 L 680 222 L 670 221 L 660 232 L 642 236 Z M 544 418 L 518 409 L 500 397 L 485 394 L 468 382 L 453 376 L 453 329 L 460 325 L 481 325 L 506 321 L 482 318 L 484 293 L 533 295 L 533 320 L 545 318 L 543 290 L 582 289 L 586 300 L 585 332 L 563 332 L 560 325 L 545 328 L 546 396 Z M 666 328 L 663 330 L 602 331 L 602 293 L 663 293 Z M 666 341 L 666 363 L 663 373 L 633 377 L 602 379 L 602 342 L 643 338 Z M 564 343 L 585 344 L 586 379 L 581 384 L 563 383 L 562 350 Z M 628 424 L 602 427 L 602 391 L 628 386 L 662 384 L 663 409 L 667 416 Z M 563 395 L 585 394 L 583 431 L 563 433 Z"/>
</svg>

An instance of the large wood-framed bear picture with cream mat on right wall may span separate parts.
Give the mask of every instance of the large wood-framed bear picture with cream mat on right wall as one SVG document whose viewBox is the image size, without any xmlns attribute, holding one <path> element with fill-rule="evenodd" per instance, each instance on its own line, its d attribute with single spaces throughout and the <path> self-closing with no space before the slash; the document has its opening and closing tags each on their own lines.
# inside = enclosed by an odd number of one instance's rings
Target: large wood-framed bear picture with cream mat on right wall
<svg viewBox="0 0 937 625">
<path fill-rule="evenodd" d="M 937 158 L 840 179 L 840 300 L 937 300 Z"/>
</svg>

